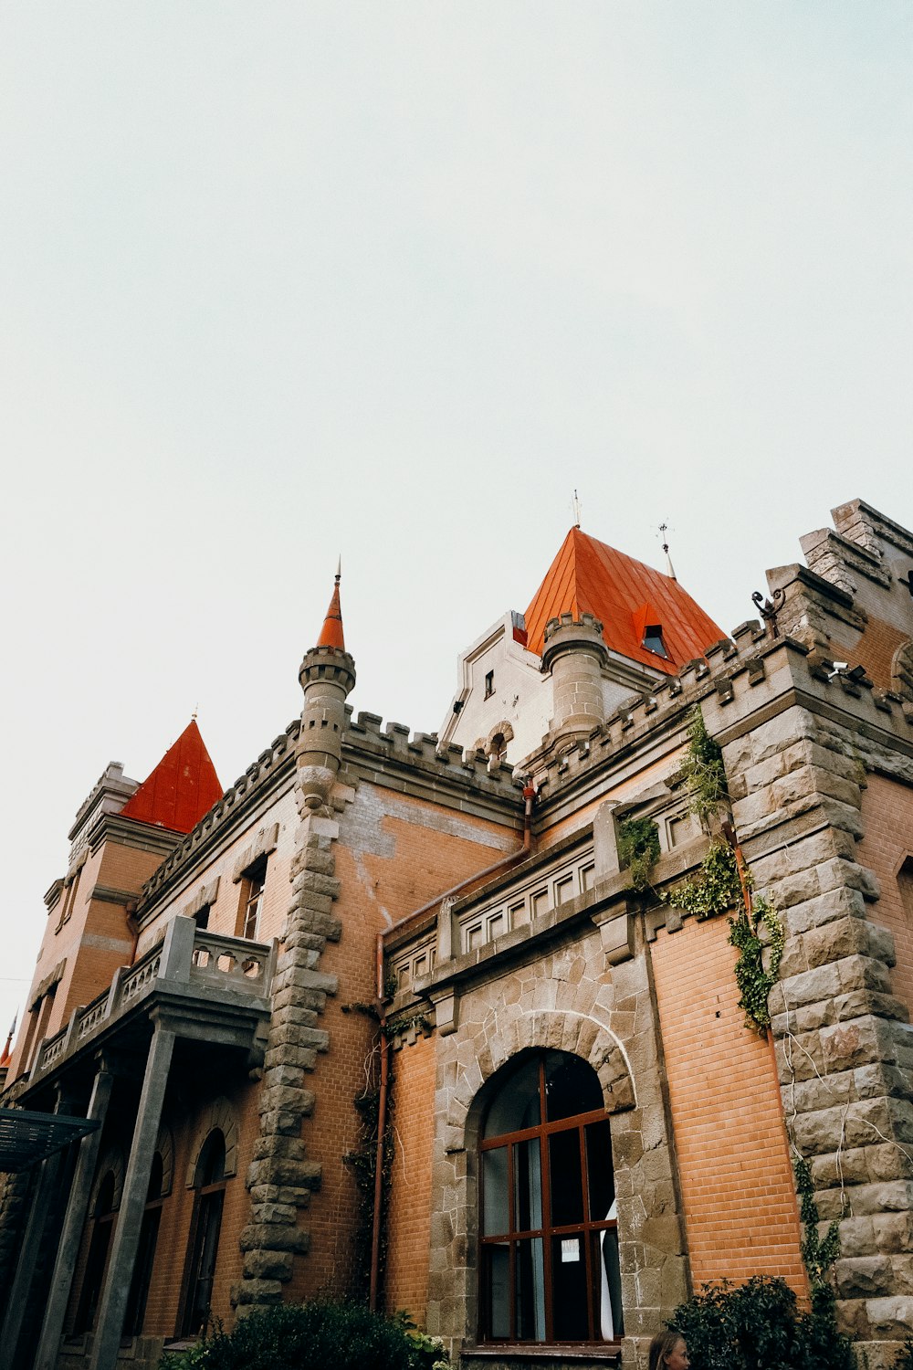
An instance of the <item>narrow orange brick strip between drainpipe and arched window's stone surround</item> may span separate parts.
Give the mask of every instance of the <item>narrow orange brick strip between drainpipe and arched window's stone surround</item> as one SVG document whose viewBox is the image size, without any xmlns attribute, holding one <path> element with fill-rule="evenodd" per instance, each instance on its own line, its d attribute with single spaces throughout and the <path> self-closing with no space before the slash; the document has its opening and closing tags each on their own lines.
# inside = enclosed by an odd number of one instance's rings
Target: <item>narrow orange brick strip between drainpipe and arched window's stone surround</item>
<svg viewBox="0 0 913 1370">
<path fill-rule="evenodd" d="M 424 1325 L 431 1234 L 431 1148 L 434 1143 L 434 1037 L 391 1054 L 396 1156 L 389 1207 L 385 1304 L 408 1308 Z"/>
</svg>

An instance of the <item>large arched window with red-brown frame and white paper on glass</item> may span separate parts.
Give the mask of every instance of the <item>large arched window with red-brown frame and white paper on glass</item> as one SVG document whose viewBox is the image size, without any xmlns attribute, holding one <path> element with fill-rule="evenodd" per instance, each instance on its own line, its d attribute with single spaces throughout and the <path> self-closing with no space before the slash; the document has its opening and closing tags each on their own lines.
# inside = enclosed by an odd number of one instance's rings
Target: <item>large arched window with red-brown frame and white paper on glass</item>
<svg viewBox="0 0 913 1370">
<path fill-rule="evenodd" d="M 479 1143 L 480 1340 L 621 1336 L 609 1119 L 591 1066 L 517 1058 L 496 1081 Z"/>
</svg>

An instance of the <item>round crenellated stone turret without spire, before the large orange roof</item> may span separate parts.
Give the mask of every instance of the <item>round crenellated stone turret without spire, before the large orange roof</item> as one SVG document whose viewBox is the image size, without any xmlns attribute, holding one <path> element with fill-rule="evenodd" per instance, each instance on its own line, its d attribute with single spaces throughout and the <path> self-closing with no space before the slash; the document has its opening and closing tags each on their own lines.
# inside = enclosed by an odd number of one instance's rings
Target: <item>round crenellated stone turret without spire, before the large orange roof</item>
<svg viewBox="0 0 913 1370">
<path fill-rule="evenodd" d="M 553 618 L 545 629 L 542 670 L 550 671 L 554 715 L 549 725 L 556 741 L 589 737 L 605 722 L 602 666 L 609 653 L 602 625 L 591 614 Z"/>
</svg>

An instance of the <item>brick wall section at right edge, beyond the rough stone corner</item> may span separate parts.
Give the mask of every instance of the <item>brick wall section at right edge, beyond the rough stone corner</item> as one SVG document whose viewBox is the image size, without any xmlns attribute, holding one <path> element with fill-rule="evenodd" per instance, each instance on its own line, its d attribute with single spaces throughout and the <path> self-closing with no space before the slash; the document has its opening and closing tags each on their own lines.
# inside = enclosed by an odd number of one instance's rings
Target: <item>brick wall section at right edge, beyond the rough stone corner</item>
<svg viewBox="0 0 913 1370">
<path fill-rule="evenodd" d="M 862 818 L 865 837 L 857 847 L 858 859 L 875 871 L 882 889 L 879 901 L 869 904 L 869 918 L 894 934 L 897 966 L 891 982 L 913 1014 L 913 888 L 906 884 L 913 871 L 910 866 L 909 874 L 901 871 L 906 858 L 913 856 L 913 788 L 884 775 L 869 775 L 862 790 Z"/>
</svg>

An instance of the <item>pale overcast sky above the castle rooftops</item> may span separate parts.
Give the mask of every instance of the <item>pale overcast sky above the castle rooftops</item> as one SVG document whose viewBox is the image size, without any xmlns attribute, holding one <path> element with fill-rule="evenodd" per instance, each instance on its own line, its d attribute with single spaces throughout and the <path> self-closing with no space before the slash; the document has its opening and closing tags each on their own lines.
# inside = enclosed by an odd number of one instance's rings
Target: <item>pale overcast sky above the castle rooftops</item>
<svg viewBox="0 0 913 1370">
<path fill-rule="evenodd" d="M 108 760 L 230 785 L 339 553 L 433 732 L 575 488 L 725 629 L 913 526 L 912 148 L 909 0 L 7 0 L 0 1036 Z"/>
</svg>

